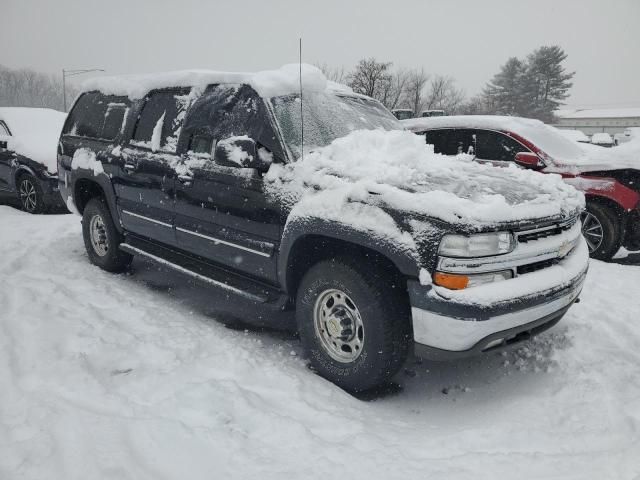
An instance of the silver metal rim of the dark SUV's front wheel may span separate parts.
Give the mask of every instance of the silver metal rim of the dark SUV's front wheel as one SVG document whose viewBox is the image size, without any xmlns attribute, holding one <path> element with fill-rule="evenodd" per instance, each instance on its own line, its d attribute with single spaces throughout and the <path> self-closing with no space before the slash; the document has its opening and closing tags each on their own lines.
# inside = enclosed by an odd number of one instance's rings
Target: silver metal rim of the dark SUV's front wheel
<svg viewBox="0 0 640 480">
<path fill-rule="evenodd" d="M 322 348 L 334 360 L 350 363 L 362 353 L 362 317 L 356 304 L 343 291 L 329 289 L 318 296 L 313 325 Z"/>
</svg>

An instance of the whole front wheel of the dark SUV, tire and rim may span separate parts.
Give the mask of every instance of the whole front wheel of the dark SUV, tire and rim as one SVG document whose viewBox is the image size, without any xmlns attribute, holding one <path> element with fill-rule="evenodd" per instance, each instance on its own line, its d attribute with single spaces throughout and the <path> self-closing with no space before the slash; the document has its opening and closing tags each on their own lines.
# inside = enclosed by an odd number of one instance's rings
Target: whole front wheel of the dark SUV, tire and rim
<svg viewBox="0 0 640 480">
<path fill-rule="evenodd" d="M 383 384 L 406 360 L 408 302 L 390 283 L 381 272 L 332 259 L 314 265 L 298 288 L 305 354 L 321 376 L 347 391 Z"/>
</svg>

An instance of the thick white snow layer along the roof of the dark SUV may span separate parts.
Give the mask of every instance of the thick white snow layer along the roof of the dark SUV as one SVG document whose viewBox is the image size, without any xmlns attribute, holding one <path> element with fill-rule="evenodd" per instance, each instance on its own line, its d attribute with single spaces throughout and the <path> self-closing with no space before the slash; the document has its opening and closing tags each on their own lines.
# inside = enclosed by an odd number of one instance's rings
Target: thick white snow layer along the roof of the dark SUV
<svg viewBox="0 0 640 480">
<path fill-rule="evenodd" d="M 265 98 L 289 95 L 300 91 L 300 65 L 288 64 L 278 70 L 262 72 L 217 72 L 213 70 L 179 70 L 141 75 L 94 77 L 82 84 L 85 91 L 98 90 L 106 95 L 142 98 L 149 91 L 169 87 L 205 87 L 215 83 L 243 83 L 251 85 Z M 352 93 L 345 85 L 330 82 L 319 68 L 302 64 L 303 91 Z"/>
</svg>

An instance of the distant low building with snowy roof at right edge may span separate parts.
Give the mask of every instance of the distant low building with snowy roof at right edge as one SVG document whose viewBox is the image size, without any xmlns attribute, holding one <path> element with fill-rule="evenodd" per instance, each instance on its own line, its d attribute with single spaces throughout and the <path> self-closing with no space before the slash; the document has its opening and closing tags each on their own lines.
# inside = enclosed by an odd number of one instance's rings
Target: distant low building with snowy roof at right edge
<svg viewBox="0 0 640 480">
<path fill-rule="evenodd" d="M 589 108 L 558 110 L 555 126 L 580 130 L 587 135 L 598 132 L 621 133 L 628 127 L 640 127 L 640 108 Z"/>
</svg>

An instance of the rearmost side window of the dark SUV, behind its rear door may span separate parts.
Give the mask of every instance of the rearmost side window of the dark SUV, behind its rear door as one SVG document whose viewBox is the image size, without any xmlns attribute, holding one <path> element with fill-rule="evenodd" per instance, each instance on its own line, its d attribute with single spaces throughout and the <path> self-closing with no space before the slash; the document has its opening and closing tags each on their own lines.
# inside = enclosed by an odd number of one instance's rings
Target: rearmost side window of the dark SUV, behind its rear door
<svg viewBox="0 0 640 480">
<path fill-rule="evenodd" d="M 64 134 L 77 137 L 113 140 L 128 108 L 125 97 L 84 93 L 76 102 L 65 123 Z"/>
</svg>

